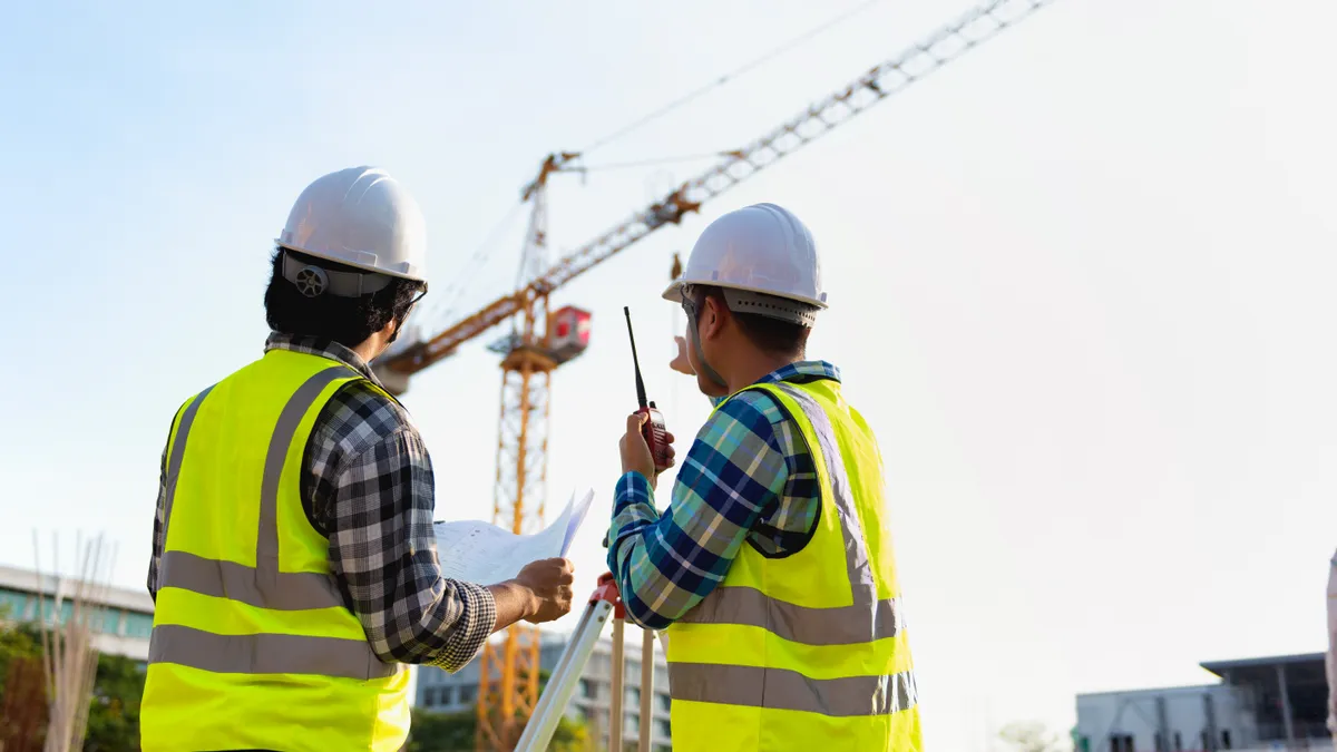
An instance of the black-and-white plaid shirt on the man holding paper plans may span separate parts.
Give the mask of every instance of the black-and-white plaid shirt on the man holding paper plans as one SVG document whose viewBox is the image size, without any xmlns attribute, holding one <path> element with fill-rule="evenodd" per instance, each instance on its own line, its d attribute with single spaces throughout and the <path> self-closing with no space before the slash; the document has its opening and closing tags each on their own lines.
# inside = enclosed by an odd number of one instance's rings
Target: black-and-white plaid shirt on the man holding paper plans
<svg viewBox="0 0 1337 752">
<path fill-rule="evenodd" d="M 366 377 L 342 385 L 312 428 L 301 495 L 312 526 L 329 538 L 330 571 L 366 641 L 384 661 L 456 672 L 496 622 L 492 593 L 441 577 L 432 516 L 432 460 L 409 413 L 349 348 L 273 333 L 265 352 L 289 349 L 337 360 Z M 370 381 L 370 383 L 369 383 Z M 148 591 L 158 595 L 167 450 L 159 475 Z"/>
</svg>

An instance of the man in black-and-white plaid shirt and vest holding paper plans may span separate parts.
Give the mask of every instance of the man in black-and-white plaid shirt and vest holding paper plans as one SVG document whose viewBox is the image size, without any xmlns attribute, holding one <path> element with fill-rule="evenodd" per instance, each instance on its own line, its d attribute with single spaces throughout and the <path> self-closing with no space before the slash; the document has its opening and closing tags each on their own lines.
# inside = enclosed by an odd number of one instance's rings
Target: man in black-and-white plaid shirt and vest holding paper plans
<svg viewBox="0 0 1337 752">
<path fill-rule="evenodd" d="M 400 749 L 405 664 L 571 607 L 571 563 L 441 574 L 432 462 L 368 367 L 427 293 L 422 214 L 384 170 L 321 177 L 277 241 L 265 355 L 178 409 L 163 450 L 142 747 Z"/>
</svg>

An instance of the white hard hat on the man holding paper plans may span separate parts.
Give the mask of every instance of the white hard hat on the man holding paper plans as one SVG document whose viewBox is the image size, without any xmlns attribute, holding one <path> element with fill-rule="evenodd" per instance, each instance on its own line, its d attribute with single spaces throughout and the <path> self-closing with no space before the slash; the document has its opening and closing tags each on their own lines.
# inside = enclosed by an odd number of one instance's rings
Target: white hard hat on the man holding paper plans
<svg viewBox="0 0 1337 752">
<path fill-rule="evenodd" d="M 427 281 L 422 210 L 380 167 L 349 167 L 317 178 L 297 197 L 277 242 L 366 272 Z"/>
</svg>

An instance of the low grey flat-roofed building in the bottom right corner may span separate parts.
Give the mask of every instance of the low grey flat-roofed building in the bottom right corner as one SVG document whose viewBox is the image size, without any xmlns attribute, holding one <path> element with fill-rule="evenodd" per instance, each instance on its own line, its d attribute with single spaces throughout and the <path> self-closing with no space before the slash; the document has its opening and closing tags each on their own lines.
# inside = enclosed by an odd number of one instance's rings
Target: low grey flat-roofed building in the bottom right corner
<svg viewBox="0 0 1337 752">
<path fill-rule="evenodd" d="M 1322 653 L 1201 665 L 1221 681 L 1079 694 L 1078 751 L 1333 748 Z"/>
</svg>

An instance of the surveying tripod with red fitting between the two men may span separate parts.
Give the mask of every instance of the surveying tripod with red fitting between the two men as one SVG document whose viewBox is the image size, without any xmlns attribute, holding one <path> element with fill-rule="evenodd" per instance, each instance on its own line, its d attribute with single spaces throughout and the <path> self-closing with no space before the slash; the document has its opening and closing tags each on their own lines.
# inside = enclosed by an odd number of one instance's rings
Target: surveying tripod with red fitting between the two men
<svg viewBox="0 0 1337 752">
<path fill-rule="evenodd" d="M 626 670 L 622 638 L 627 610 L 622 605 L 622 595 L 612 581 L 612 574 L 599 577 L 599 585 L 590 595 L 580 622 L 571 634 L 571 641 L 567 642 L 567 649 L 563 650 L 556 668 L 552 669 L 548 685 L 544 688 L 543 696 L 539 697 L 539 702 L 535 704 L 529 723 L 525 724 L 524 733 L 520 735 L 520 741 L 516 743 L 516 752 L 543 752 L 548 748 L 548 743 L 552 741 L 552 735 L 558 729 L 558 721 L 562 720 L 567 704 L 575 693 L 576 684 L 580 682 L 580 673 L 599 642 L 603 625 L 610 618 L 612 620 L 612 698 L 608 704 L 608 752 L 622 752 L 622 674 Z M 654 712 L 654 658 L 655 633 L 647 629 L 640 640 L 640 743 L 636 747 L 639 752 L 650 751 L 650 732 L 654 728 L 654 724 L 650 723 Z"/>
</svg>

